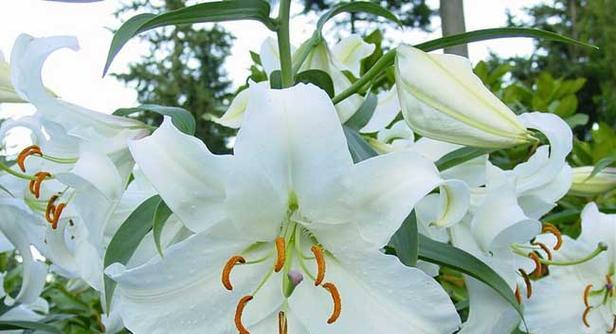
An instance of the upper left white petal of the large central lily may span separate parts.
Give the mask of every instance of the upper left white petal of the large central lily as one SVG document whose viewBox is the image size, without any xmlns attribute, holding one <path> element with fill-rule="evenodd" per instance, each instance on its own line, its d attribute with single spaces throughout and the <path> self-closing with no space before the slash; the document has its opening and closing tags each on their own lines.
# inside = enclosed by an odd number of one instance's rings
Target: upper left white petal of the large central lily
<svg viewBox="0 0 616 334">
<path fill-rule="evenodd" d="M 223 180 L 231 156 L 212 154 L 203 142 L 176 129 L 170 118 L 151 136 L 130 142 L 129 148 L 143 174 L 186 227 L 204 231 L 225 219 Z"/>
</svg>

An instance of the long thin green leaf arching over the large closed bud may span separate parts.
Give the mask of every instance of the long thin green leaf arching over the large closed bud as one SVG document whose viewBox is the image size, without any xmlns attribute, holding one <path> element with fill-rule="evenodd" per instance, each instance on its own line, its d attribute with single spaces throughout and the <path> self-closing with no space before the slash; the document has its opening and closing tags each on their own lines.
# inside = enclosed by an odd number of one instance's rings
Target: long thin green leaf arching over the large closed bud
<svg viewBox="0 0 616 334">
<path fill-rule="evenodd" d="M 556 42 L 563 42 L 569 44 L 575 44 L 579 46 L 589 47 L 598 49 L 595 45 L 579 42 L 572 38 L 559 35 L 550 31 L 541 30 L 541 29 L 533 29 L 533 28 L 492 28 L 492 29 L 481 29 L 465 32 L 462 34 L 450 35 L 447 37 L 433 39 L 431 41 L 427 41 L 421 44 L 415 45 L 416 48 L 421 49 L 423 51 L 432 51 L 438 50 L 450 46 L 456 46 L 460 44 L 472 43 L 485 41 L 489 39 L 497 39 L 497 38 L 510 38 L 510 37 L 532 37 L 543 40 L 551 40 Z"/>
</svg>

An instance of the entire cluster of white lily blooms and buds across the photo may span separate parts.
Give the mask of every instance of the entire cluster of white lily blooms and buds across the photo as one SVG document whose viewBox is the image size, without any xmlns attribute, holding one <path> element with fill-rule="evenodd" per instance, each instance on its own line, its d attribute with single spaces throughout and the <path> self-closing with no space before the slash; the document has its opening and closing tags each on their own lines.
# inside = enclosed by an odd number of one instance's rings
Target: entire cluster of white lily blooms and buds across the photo
<svg viewBox="0 0 616 334">
<path fill-rule="evenodd" d="M 10 65 L 0 63 L 1 101 L 37 109 L 0 128 L 3 139 L 16 127 L 32 132 L 31 145 L 7 157 L 15 164 L 2 164 L 0 174 L 0 241 L 23 258 L 21 291 L 11 299 L 24 312 L 40 309 L 52 271 L 101 294 L 105 275 L 117 283 L 109 332 L 614 332 L 616 217 L 588 204 L 577 240 L 541 222 L 572 182 L 577 192 L 606 191 L 612 171 L 592 179 L 599 185 L 588 181 L 590 170 L 573 171 L 569 126 L 553 114 L 515 115 L 467 59 L 398 47 L 396 84 L 378 95 L 360 130 L 377 133 L 368 142 L 381 154 L 354 162 L 343 124 L 364 103 L 358 93 L 334 104 L 314 84 L 251 83 L 217 119 L 239 129 L 234 153 L 215 155 L 170 117 L 150 134 L 138 121 L 56 97 L 41 68 L 60 48 L 76 50 L 77 42 L 22 35 Z M 373 51 L 356 35 L 333 47 L 321 41 L 300 69 L 326 72 L 339 94 Z M 278 54 L 266 40 L 260 57 L 268 76 L 280 69 Z M 435 164 L 465 146 L 525 143 L 534 153 L 511 170 L 487 153 L 448 169 Z M 104 268 L 122 222 L 155 194 L 173 213 L 160 237 L 164 255 L 150 232 L 127 263 Z M 413 210 L 422 235 L 504 278 L 526 306 L 523 323 L 470 276 L 462 323 L 433 278 L 438 267 L 408 267 L 384 252 Z"/>
</svg>

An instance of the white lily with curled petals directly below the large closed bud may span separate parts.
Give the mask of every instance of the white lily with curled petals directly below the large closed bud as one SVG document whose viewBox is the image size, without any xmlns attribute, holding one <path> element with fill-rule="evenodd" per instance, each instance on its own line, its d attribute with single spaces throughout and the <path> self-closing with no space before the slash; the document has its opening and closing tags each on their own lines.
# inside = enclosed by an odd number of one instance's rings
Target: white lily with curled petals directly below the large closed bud
<svg viewBox="0 0 616 334">
<path fill-rule="evenodd" d="M 536 264 L 526 256 L 528 251 L 518 254 L 512 247 L 526 244 L 541 233 L 539 218 L 566 194 L 571 184 L 571 168 L 565 158 L 572 143 L 570 128 L 557 116 L 529 113 L 519 119 L 525 126 L 544 133 L 550 145 L 537 148 L 527 162 L 513 170 L 493 166 L 486 154 L 441 173 L 447 180 L 461 180 L 472 187 L 470 209 L 461 222 L 449 224 L 446 230 L 438 228 L 436 217 L 442 216 L 442 209 L 434 204 L 434 194 L 416 206 L 422 234 L 451 241 L 488 264 L 512 289 L 518 290 L 525 284 L 519 269 L 526 275 Z M 424 137 L 411 150 L 436 161 L 459 148 Z M 556 243 L 544 244 L 546 249 L 547 245 L 557 248 Z M 519 315 L 507 302 L 480 282 L 470 277 L 465 280 L 471 308 L 461 333 L 509 333 L 518 325 Z"/>
</svg>

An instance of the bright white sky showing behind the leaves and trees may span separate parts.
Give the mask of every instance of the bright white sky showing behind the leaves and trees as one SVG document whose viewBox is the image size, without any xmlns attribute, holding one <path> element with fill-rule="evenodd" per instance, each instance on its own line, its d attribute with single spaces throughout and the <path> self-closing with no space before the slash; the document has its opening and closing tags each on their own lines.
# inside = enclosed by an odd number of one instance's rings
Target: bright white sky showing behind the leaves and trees
<svg viewBox="0 0 616 334">
<path fill-rule="evenodd" d="M 501 27 L 506 22 L 506 10 L 522 15 L 522 9 L 539 0 L 465 0 L 464 14 L 467 30 Z M 104 0 L 96 3 L 67 4 L 44 0 L 2 0 L 0 9 L 0 50 L 10 58 L 13 42 L 21 33 L 35 37 L 73 35 L 80 43 L 80 50 L 60 50 L 51 55 L 43 69 L 43 81 L 66 101 L 100 112 L 111 113 L 117 108 L 135 106 L 135 91 L 111 76 L 102 77 L 103 64 L 107 55 L 112 33 L 110 28 L 118 27 L 112 15 L 120 0 Z M 428 0 L 432 8 L 438 7 L 438 0 Z M 295 11 L 301 10 L 295 6 Z M 313 31 L 314 18 L 298 16 L 291 26 L 292 43 L 299 45 Z M 261 41 L 273 36 L 270 31 L 256 22 L 225 23 L 236 36 L 231 56 L 226 62 L 226 71 L 235 85 L 241 85 L 248 75 L 251 64 L 249 51 L 258 51 Z M 423 33 L 410 30 L 388 32 L 388 36 L 406 43 L 418 43 L 440 37 L 440 25 L 434 25 L 434 32 Z M 332 41 L 334 42 L 334 41 Z M 530 39 L 507 39 L 474 43 L 469 47 L 474 62 L 484 59 L 491 51 L 501 56 L 524 56 L 532 51 Z M 130 62 L 138 61 L 147 46 L 134 39 L 116 57 L 111 72 L 126 71 Z M 0 107 L 7 113 L 6 108 Z M 23 107 L 21 107 L 23 108 Z M 19 111 L 11 106 L 11 111 Z M 12 112 L 10 113 L 13 114 Z"/>
</svg>

